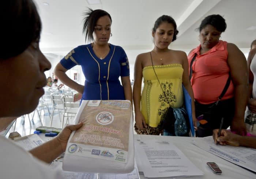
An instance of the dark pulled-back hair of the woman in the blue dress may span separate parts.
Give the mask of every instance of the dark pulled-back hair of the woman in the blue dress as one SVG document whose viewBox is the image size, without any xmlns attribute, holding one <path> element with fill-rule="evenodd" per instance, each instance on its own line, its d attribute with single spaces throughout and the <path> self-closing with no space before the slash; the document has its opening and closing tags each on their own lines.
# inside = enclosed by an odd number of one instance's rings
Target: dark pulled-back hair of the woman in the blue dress
<svg viewBox="0 0 256 179">
<path fill-rule="evenodd" d="M 106 15 L 109 16 L 112 23 L 112 18 L 110 14 L 102 9 L 93 10 L 91 8 L 88 8 L 88 10 L 84 12 L 83 33 L 85 34 L 85 41 L 94 41 L 94 27 L 96 26 L 98 19 Z"/>
</svg>

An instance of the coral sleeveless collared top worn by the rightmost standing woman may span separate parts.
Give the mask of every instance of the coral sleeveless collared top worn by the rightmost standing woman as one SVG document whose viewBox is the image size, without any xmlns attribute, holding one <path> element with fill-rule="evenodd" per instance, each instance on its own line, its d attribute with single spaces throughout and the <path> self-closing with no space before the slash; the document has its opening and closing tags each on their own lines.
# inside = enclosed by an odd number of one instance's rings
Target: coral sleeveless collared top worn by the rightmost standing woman
<svg viewBox="0 0 256 179">
<path fill-rule="evenodd" d="M 202 55 L 200 55 L 200 49 L 201 45 L 192 50 L 188 55 L 190 67 L 192 58 L 197 54 L 192 64 L 191 85 L 195 100 L 202 104 L 210 104 L 218 100 L 229 77 L 230 68 L 227 64 L 227 42 L 219 41 L 211 50 Z M 234 85 L 231 80 L 222 100 L 233 97 Z"/>
</svg>

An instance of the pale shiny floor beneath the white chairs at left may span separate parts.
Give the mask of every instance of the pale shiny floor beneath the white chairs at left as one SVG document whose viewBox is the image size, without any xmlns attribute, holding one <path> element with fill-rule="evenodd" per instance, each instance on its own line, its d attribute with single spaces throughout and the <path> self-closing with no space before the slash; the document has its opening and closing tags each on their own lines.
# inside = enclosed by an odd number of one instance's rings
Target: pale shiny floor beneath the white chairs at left
<svg viewBox="0 0 256 179">
<path fill-rule="evenodd" d="M 33 120 L 32 119 L 32 114 L 29 114 L 30 116 L 30 121 L 31 121 L 31 127 L 29 124 L 29 117 L 28 115 L 25 116 L 25 119 L 23 119 L 22 117 L 19 117 L 16 121 L 16 127 L 14 130 L 14 125 L 11 127 L 11 129 L 9 130 L 9 132 L 7 133 L 6 137 L 9 136 L 9 134 L 11 132 L 18 132 L 21 136 L 27 136 L 29 134 L 33 134 L 35 129 L 38 126 L 41 126 L 41 122 L 40 119 L 38 117 L 38 114 L 35 113 Z M 134 116 L 134 114 L 133 114 Z M 42 120 L 42 124 L 43 126 L 50 126 L 50 116 L 47 110 L 42 110 L 42 113 L 40 115 L 40 118 Z M 24 124 L 23 121 L 25 120 Z M 71 122 L 71 121 L 70 121 Z M 54 112 L 53 115 L 53 122 L 52 122 L 52 127 L 56 127 L 56 128 L 61 128 L 62 122 L 59 118 L 59 114 Z M 133 124 L 134 125 L 134 124 Z M 133 133 L 136 134 L 136 132 L 133 129 Z"/>
</svg>

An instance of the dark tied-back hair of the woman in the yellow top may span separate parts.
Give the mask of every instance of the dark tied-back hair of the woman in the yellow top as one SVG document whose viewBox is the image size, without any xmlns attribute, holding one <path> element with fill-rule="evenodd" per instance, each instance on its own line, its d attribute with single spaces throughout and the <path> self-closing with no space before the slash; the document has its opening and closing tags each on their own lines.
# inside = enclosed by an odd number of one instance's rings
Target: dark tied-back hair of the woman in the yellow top
<svg viewBox="0 0 256 179">
<path fill-rule="evenodd" d="M 173 41 L 175 41 L 177 39 L 177 34 L 179 33 L 179 31 L 177 30 L 177 25 L 175 20 L 171 17 L 171 16 L 167 16 L 167 15 L 162 15 L 161 17 L 159 17 L 154 24 L 154 27 L 152 29 L 153 33 L 155 33 L 155 31 L 157 30 L 157 28 L 160 26 L 161 23 L 163 22 L 167 22 L 170 24 L 173 24 L 174 27 L 174 34 L 173 34 Z"/>
</svg>

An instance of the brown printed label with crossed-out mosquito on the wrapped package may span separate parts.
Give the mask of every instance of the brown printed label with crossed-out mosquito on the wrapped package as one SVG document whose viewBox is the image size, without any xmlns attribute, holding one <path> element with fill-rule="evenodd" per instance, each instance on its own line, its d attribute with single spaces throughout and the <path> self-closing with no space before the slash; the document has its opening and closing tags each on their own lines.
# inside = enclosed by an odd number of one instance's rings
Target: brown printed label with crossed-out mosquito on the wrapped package
<svg viewBox="0 0 256 179">
<path fill-rule="evenodd" d="M 68 147 L 68 153 L 127 163 L 131 103 L 90 100 L 84 107 Z"/>
</svg>

